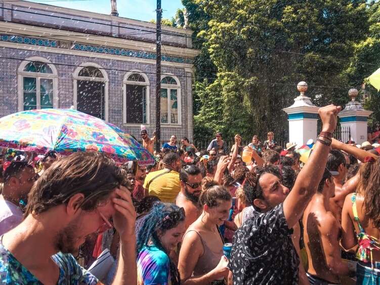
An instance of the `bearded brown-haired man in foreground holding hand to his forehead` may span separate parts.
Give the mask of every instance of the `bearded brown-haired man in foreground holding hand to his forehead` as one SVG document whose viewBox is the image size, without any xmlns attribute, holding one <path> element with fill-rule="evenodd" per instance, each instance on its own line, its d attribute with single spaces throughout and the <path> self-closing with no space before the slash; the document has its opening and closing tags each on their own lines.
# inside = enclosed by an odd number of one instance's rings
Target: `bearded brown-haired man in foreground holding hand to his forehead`
<svg viewBox="0 0 380 285">
<path fill-rule="evenodd" d="M 34 183 L 24 220 L 0 236 L 0 282 L 98 284 L 72 254 L 89 235 L 114 227 L 120 255 L 113 284 L 136 284 L 136 212 L 124 186 L 132 188 L 125 172 L 104 154 L 56 161 Z"/>
</svg>

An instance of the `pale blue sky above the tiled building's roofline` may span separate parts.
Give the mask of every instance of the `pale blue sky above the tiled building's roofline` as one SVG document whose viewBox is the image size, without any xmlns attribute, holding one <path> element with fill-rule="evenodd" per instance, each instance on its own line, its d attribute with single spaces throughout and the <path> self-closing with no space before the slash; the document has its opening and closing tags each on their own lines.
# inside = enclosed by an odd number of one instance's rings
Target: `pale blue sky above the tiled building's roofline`
<svg viewBox="0 0 380 285">
<path fill-rule="evenodd" d="M 52 0 L 32 0 L 41 4 L 48 4 L 77 10 L 109 14 L 111 12 L 110 0 L 86 0 L 86 1 L 52 1 Z M 117 11 L 120 17 L 131 18 L 142 21 L 156 19 L 156 0 L 116 0 Z M 176 14 L 178 8 L 184 8 L 181 0 L 161 0 L 163 9 L 162 17 L 171 19 Z"/>
</svg>

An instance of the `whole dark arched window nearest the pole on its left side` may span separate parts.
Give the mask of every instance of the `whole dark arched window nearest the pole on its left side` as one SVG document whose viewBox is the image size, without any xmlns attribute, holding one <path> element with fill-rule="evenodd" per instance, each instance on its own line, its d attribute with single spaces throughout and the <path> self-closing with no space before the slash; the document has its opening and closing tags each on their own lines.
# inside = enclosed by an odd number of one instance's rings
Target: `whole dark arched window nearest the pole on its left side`
<svg viewBox="0 0 380 285">
<path fill-rule="evenodd" d="M 123 80 L 124 124 L 149 124 L 149 80 L 140 72 L 125 74 Z"/>
</svg>

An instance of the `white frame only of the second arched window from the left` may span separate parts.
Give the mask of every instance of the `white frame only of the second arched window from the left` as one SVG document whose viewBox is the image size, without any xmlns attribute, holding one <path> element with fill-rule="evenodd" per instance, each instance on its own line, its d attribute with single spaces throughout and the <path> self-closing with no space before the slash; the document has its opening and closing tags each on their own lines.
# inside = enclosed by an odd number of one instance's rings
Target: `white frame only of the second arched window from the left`
<svg viewBox="0 0 380 285">
<path fill-rule="evenodd" d="M 79 71 L 82 70 L 83 67 L 96 67 L 99 68 L 100 72 L 103 74 L 103 78 L 98 77 L 87 77 L 87 76 L 78 76 Z M 83 62 L 79 64 L 79 66 L 74 70 L 72 74 L 73 78 L 73 106 L 74 109 L 77 109 L 77 103 L 78 103 L 78 80 L 87 80 L 87 81 L 97 81 L 97 82 L 104 82 L 104 120 L 108 121 L 108 74 L 103 69 L 103 67 L 97 63 L 94 62 Z"/>
</svg>

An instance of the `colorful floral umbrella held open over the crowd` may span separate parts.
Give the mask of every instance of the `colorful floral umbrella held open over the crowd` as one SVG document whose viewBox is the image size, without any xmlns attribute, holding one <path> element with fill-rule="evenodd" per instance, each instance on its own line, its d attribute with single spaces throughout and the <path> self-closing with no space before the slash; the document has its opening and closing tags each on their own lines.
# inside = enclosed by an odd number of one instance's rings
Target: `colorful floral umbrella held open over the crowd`
<svg viewBox="0 0 380 285">
<path fill-rule="evenodd" d="M 77 151 L 99 151 L 118 162 L 138 160 L 154 164 L 140 143 L 116 126 L 73 109 L 40 109 L 0 118 L 0 147 L 44 154 L 63 155 Z"/>
</svg>

